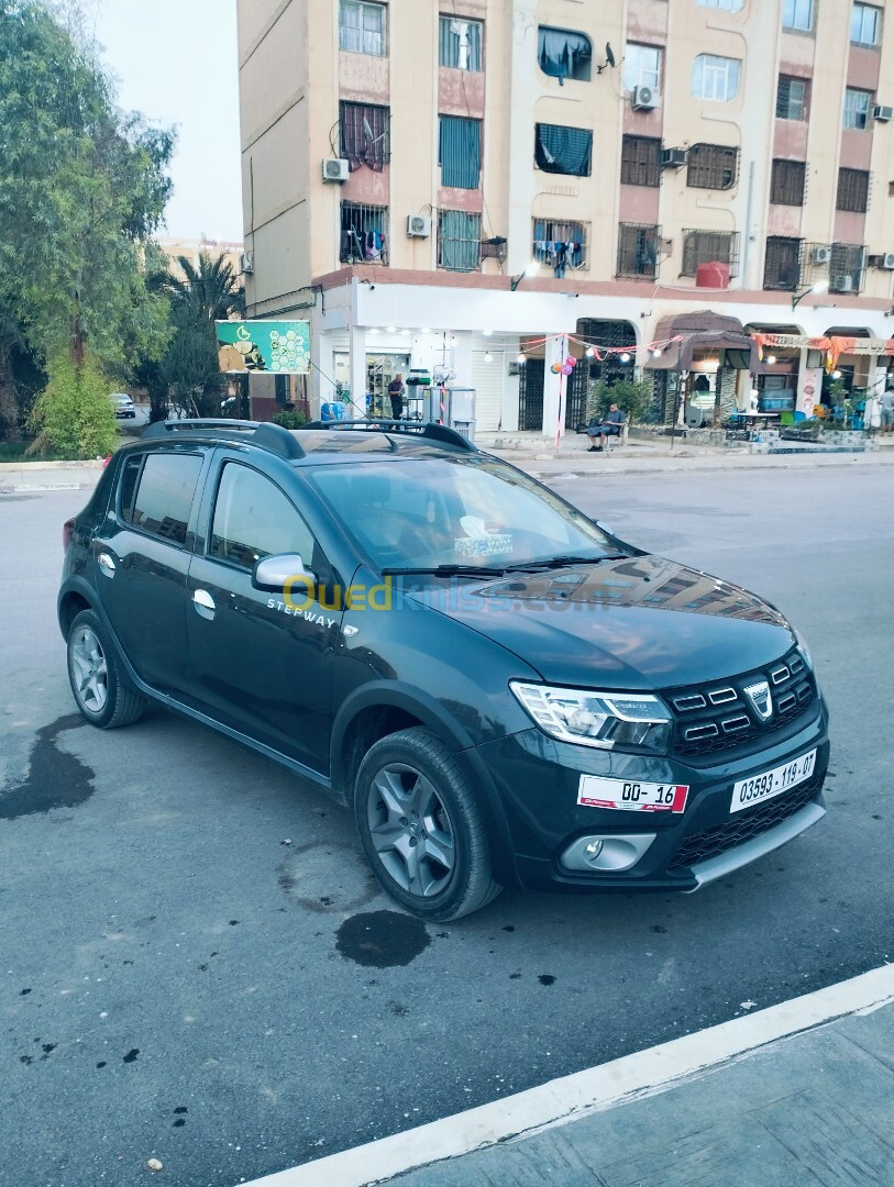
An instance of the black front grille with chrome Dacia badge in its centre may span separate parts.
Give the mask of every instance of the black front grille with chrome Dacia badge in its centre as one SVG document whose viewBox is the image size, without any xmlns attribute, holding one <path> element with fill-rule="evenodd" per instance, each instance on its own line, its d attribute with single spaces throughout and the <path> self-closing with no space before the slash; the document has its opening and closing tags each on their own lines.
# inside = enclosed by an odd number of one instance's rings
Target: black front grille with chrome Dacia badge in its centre
<svg viewBox="0 0 894 1187">
<path fill-rule="evenodd" d="M 773 700 L 773 715 L 761 721 L 746 690 L 766 680 Z M 792 650 L 784 659 L 731 680 L 662 694 L 674 715 L 673 751 L 681 757 L 716 754 L 753 742 L 788 725 L 817 699 L 810 669 Z"/>
</svg>

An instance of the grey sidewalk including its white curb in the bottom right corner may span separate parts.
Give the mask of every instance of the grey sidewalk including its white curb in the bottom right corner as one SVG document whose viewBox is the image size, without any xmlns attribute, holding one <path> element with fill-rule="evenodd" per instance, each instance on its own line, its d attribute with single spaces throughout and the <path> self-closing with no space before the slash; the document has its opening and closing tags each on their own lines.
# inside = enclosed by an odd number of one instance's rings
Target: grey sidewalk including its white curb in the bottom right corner
<svg viewBox="0 0 894 1187">
<path fill-rule="evenodd" d="M 890 1185 L 894 965 L 255 1187 L 369 1182 Z"/>
</svg>

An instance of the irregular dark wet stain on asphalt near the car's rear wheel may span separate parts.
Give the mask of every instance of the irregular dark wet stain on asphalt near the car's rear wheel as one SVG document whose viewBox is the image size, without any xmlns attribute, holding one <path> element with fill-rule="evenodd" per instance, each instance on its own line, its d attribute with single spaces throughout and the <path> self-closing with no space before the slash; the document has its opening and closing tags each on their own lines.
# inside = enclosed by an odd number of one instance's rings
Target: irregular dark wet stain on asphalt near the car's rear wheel
<svg viewBox="0 0 894 1187">
<path fill-rule="evenodd" d="M 84 724 L 80 713 L 69 713 L 37 731 L 26 779 L 0 793 L 0 820 L 74 808 L 89 800 L 94 793 L 93 770 L 56 744 L 63 730 Z"/>
</svg>

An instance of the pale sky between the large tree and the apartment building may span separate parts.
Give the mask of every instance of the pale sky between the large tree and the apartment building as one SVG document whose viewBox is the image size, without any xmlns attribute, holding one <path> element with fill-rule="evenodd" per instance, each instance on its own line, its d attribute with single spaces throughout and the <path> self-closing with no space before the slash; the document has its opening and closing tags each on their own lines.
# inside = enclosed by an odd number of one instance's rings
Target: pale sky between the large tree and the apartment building
<svg viewBox="0 0 894 1187">
<path fill-rule="evenodd" d="M 242 240 L 235 0 L 83 0 L 119 106 L 177 128 L 161 237 Z"/>
</svg>

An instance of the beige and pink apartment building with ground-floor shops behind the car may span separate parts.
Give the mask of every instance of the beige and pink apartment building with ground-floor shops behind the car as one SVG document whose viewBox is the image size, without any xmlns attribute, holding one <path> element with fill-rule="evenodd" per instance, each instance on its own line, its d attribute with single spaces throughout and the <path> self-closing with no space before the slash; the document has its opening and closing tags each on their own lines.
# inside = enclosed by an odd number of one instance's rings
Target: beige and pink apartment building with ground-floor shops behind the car
<svg viewBox="0 0 894 1187">
<path fill-rule="evenodd" d="M 597 377 L 886 380 L 885 0 L 239 0 L 239 62 L 248 311 L 309 318 L 317 401 L 444 367 L 552 436 Z"/>
</svg>

